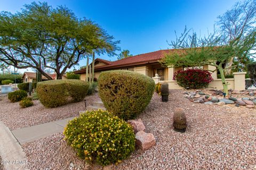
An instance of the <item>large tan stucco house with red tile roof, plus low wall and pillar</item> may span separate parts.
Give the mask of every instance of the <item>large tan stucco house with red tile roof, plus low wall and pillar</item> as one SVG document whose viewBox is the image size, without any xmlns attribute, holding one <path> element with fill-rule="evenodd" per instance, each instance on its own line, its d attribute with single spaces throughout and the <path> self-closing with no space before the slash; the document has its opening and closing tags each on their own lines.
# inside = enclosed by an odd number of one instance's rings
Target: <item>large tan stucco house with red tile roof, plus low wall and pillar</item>
<svg viewBox="0 0 256 170">
<path fill-rule="evenodd" d="M 159 60 L 170 53 L 181 53 L 183 49 L 164 49 L 156 52 L 150 52 L 145 54 L 139 54 L 132 57 L 124 58 L 117 61 L 107 61 L 100 58 L 95 59 L 94 62 L 94 77 L 98 78 L 102 71 L 108 70 L 130 70 L 144 75 L 148 75 L 153 78 L 155 82 L 166 81 L 169 83 L 170 89 L 181 89 L 176 81 L 173 81 L 173 74 L 178 70 L 185 70 L 186 67 L 163 67 Z M 202 65 L 202 69 L 215 70 L 216 68 L 211 65 Z M 77 70 L 74 73 L 80 74 L 81 80 L 86 79 L 86 69 Z M 156 73 L 158 77 L 155 77 Z M 230 83 L 229 88 L 244 90 L 245 89 L 245 74 L 246 72 L 234 73 L 233 79 L 227 79 Z M 209 84 L 209 87 L 222 89 L 221 79 L 217 79 L 217 71 L 212 73 L 213 82 Z"/>
</svg>

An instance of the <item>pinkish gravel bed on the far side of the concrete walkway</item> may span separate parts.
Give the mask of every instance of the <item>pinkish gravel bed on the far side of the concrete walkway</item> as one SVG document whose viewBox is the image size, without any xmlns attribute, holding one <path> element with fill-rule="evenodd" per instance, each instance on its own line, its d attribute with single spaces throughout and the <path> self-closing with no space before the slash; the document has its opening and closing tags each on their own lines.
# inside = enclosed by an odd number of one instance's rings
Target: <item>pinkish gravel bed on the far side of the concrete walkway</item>
<svg viewBox="0 0 256 170">
<path fill-rule="evenodd" d="M 99 100 L 98 95 L 87 96 L 87 105 Z M 0 100 L 0 121 L 10 130 L 61 120 L 79 115 L 85 109 L 84 101 L 70 103 L 57 108 L 46 108 L 39 100 L 33 100 L 34 106 L 20 108 L 19 102 L 11 103 L 7 97 Z"/>
</svg>

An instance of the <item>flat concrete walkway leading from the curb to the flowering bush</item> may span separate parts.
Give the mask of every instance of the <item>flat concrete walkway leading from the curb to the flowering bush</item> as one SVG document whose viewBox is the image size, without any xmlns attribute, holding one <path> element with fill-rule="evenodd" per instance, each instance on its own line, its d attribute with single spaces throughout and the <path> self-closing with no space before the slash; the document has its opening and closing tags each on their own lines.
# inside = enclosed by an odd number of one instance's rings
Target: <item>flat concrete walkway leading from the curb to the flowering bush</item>
<svg viewBox="0 0 256 170">
<path fill-rule="evenodd" d="M 62 132 L 68 121 L 73 120 L 74 118 L 75 117 L 69 117 L 59 121 L 13 130 L 12 134 L 19 141 L 20 145 L 23 145 L 24 143 L 42 139 L 54 133 Z"/>
</svg>

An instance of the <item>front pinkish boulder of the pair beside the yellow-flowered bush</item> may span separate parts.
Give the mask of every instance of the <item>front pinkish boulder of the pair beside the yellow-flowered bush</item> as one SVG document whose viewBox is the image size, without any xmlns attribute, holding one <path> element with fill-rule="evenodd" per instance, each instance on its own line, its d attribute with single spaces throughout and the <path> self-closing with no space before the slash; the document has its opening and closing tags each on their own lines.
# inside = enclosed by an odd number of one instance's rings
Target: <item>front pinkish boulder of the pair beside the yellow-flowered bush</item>
<svg viewBox="0 0 256 170">
<path fill-rule="evenodd" d="M 135 138 L 136 145 L 142 150 L 148 150 L 156 145 L 156 139 L 152 133 L 139 131 L 136 133 Z"/>
</svg>

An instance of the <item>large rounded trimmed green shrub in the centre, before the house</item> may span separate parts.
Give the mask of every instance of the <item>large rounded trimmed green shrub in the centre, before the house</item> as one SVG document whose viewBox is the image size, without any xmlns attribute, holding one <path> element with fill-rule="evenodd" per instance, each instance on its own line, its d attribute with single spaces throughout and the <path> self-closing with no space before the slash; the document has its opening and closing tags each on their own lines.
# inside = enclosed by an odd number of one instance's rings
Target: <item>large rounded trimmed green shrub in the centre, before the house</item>
<svg viewBox="0 0 256 170">
<path fill-rule="evenodd" d="M 109 112 L 130 120 L 145 110 L 155 90 L 150 77 L 132 71 L 106 71 L 98 80 L 99 96 Z"/>
</svg>

